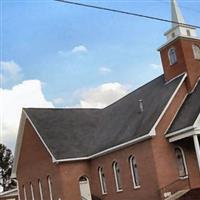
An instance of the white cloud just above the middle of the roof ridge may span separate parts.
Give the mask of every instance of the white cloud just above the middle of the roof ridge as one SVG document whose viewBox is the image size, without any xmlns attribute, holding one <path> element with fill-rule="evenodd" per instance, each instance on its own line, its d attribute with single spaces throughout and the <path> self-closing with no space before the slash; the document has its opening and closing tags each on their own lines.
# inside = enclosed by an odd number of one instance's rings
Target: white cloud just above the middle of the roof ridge
<svg viewBox="0 0 200 200">
<path fill-rule="evenodd" d="M 104 108 L 129 92 L 129 87 L 120 83 L 106 83 L 81 92 L 82 108 Z"/>
</svg>

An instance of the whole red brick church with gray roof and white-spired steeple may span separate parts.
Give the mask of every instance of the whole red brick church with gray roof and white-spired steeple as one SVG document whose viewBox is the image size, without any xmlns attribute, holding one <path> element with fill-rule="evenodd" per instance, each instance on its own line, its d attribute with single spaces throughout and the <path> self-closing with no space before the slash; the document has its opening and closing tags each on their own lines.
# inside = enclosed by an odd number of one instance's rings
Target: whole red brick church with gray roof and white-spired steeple
<svg viewBox="0 0 200 200">
<path fill-rule="evenodd" d="M 23 109 L 20 200 L 200 199 L 200 39 L 171 12 L 163 75 L 104 109 Z"/>
</svg>

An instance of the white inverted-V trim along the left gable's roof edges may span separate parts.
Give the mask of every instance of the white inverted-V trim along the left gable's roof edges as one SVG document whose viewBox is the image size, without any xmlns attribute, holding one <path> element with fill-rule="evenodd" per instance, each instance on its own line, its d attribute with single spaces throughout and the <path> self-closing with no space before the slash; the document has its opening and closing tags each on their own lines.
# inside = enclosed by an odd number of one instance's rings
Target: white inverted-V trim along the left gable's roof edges
<svg viewBox="0 0 200 200">
<path fill-rule="evenodd" d="M 14 164 L 13 164 L 12 175 L 11 175 L 12 178 L 16 178 L 17 165 L 18 165 L 18 161 L 19 161 L 19 156 L 20 156 L 20 151 L 21 151 L 21 146 L 22 146 L 22 140 L 23 140 L 23 135 L 24 135 L 24 126 L 25 126 L 26 120 L 28 120 L 31 123 L 31 126 L 33 127 L 33 129 L 37 133 L 42 144 L 45 146 L 48 153 L 51 155 L 52 161 L 54 162 L 54 160 L 55 160 L 53 154 L 50 152 L 49 148 L 47 147 L 47 145 L 43 141 L 42 137 L 40 136 L 40 134 L 39 134 L 38 130 L 36 129 L 36 127 L 34 126 L 33 122 L 31 121 L 31 119 L 29 118 L 29 116 L 27 115 L 25 110 L 22 110 L 20 125 L 19 125 L 18 135 L 17 135 L 17 142 L 16 142 L 16 145 L 15 145 Z"/>
</svg>

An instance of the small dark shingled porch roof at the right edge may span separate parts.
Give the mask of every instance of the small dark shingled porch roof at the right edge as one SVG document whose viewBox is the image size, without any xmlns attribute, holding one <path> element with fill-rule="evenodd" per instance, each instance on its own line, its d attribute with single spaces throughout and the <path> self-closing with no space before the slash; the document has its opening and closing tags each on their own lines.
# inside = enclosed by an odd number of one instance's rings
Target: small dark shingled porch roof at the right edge
<svg viewBox="0 0 200 200">
<path fill-rule="evenodd" d="M 200 114 L 200 83 L 193 93 L 187 96 L 184 104 L 179 110 L 168 133 L 192 126 Z"/>
</svg>

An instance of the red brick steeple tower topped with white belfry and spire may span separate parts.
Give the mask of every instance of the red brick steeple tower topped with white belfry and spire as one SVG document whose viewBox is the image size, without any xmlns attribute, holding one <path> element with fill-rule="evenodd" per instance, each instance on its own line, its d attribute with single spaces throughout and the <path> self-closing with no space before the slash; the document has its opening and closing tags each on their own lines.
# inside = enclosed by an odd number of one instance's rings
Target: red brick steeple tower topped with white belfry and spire
<svg viewBox="0 0 200 200">
<path fill-rule="evenodd" d="M 185 25 L 176 0 L 171 0 L 172 27 L 165 33 L 167 42 L 160 47 L 165 80 L 187 73 L 188 89 L 192 90 L 200 78 L 200 39 L 196 29 Z"/>
</svg>

